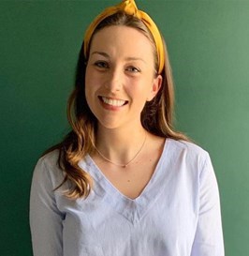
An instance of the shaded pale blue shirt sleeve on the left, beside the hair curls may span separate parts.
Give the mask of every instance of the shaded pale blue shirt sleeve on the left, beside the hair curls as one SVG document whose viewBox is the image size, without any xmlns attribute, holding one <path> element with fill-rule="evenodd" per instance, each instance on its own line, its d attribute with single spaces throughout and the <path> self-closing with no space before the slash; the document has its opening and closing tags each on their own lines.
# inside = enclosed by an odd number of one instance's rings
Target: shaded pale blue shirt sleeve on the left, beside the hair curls
<svg viewBox="0 0 249 256">
<path fill-rule="evenodd" d="M 37 162 L 30 194 L 30 228 L 34 256 L 62 256 L 63 214 L 58 210 L 51 168 L 44 158 Z"/>
</svg>

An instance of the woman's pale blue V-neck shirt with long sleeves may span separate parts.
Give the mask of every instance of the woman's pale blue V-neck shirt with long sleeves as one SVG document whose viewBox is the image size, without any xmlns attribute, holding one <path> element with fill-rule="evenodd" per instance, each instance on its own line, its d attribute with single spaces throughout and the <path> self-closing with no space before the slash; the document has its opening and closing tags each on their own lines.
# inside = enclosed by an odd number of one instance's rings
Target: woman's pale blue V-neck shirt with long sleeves
<svg viewBox="0 0 249 256">
<path fill-rule="evenodd" d="M 224 256 L 219 192 L 209 154 L 167 139 L 138 198 L 124 196 L 87 156 L 87 199 L 69 200 L 58 152 L 40 158 L 30 198 L 34 256 Z"/>
</svg>

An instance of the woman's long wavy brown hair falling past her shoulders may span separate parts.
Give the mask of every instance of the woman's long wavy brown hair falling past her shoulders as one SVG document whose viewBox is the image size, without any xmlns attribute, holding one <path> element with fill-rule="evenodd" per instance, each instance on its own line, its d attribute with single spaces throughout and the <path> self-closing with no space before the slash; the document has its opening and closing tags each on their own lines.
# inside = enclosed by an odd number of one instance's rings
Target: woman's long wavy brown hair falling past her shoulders
<svg viewBox="0 0 249 256">
<path fill-rule="evenodd" d="M 110 25 L 133 27 L 149 38 L 154 49 L 154 70 L 158 70 L 154 38 L 144 23 L 138 18 L 120 11 L 99 23 L 95 33 Z M 165 53 L 165 68 L 160 74 L 163 78 L 162 86 L 154 99 L 146 102 L 141 113 L 141 124 L 143 128 L 154 135 L 186 141 L 188 140 L 187 137 L 175 131 L 172 126 L 174 89 L 166 45 Z M 76 69 L 75 88 L 68 99 L 67 105 L 67 118 L 72 130 L 66 135 L 62 143 L 51 147 L 51 149 L 45 152 L 46 154 L 54 149 L 59 150 L 58 164 L 65 173 L 65 178 L 58 188 L 68 182 L 70 186 L 65 191 L 65 194 L 71 199 L 86 198 L 93 186 L 91 176 L 81 170 L 81 167 L 78 165 L 82 158 L 95 150 L 94 144 L 97 128 L 97 120 L 85 98 L 86 65 L 87 58 L 84 56 L 82 44 Z M 156 72 L 155 75 L 157 75 Z"/>
</svg>

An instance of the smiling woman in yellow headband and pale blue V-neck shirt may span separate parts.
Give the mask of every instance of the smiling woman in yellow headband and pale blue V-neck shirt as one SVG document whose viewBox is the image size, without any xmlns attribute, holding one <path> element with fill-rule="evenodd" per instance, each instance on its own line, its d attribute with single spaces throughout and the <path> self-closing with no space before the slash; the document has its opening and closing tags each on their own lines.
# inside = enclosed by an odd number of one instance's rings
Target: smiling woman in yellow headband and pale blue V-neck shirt
<svg viewBox="0 0 249 256">
<path fill-rule="evenodd" d="M 207 152 L 172 128 L 168 53 L 134 1 L 86 31 L 69 99 L 72 131 L 39 159 L 35 256 L 224 255 Z"/>
</svg>

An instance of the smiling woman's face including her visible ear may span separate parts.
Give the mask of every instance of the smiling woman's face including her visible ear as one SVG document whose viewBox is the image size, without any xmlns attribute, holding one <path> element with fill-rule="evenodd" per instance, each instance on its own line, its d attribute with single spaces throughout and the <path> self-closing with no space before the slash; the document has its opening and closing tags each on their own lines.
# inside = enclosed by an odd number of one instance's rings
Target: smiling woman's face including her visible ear
<svg viewBox="0 0 249 256">
<path fill-rule="evenodd" d="M 140 113 L 162 82 L 154 74 L 153 47 L 139 30 L 113 25 L 97 32 L 86 67 L 85 96 L 98 124 L 140 126 Z"/>
</svg>

